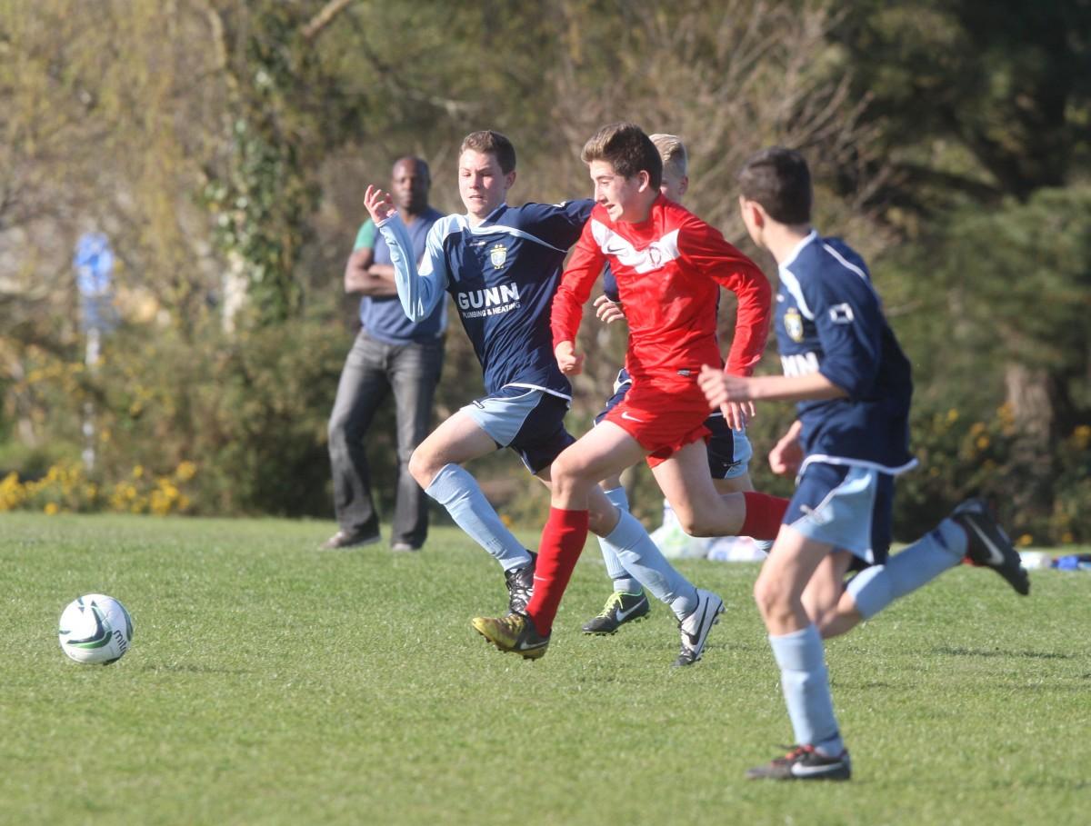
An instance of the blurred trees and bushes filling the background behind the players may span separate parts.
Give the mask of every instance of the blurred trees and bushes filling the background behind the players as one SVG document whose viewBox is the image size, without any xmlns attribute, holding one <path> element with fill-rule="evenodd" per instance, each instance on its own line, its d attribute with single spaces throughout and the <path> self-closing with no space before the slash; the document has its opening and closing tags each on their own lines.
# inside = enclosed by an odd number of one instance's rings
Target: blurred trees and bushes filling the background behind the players
<svg viewBox="0 0 1091 826">
<path fill-rule="evenodd" d="M 774 278 L 734 172 L 769 144 L 807 156 L 816 224 L 871 262 L 914 363 L 902 537 L 983 491 L 1023 544 L 1091 540 L 1089 86 L 1091 0 L 0 0 L 0 509 L 328 517 L 367 183 L 419 154 L 459 210 L 458 142 L 496 129 L 513 203 L 584 196 L 583 142 L 634 120 L 685 139 L 687 206 Z M 117 255 L 121 319 L 94 366 L 87 231 Z M 727 341 L 730 296 L 721 316 Z M 582 336 L 575 433 L 625 344 Z M 479 375 L 454 325 L 436 415 Z M 791 416 L 763 408 L 758 457 Z M 391 478 L 391 423 L 370 438 Z M 478 470 L 540 523 L 514 458 Z M 630 484 L 655 521 L 646 471 Z"/>
</svg>

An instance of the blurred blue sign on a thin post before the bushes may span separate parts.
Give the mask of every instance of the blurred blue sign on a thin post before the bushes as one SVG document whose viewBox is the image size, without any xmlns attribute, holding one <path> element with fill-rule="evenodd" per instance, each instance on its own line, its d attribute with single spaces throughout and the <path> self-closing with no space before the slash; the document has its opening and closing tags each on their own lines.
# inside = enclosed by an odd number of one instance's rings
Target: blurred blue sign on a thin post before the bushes
<svg viewBox="0 0 1091 826">
<path fill-rule="evenodd" d="M 94 372 L 98 365 L 103 333 L 118 324 L 110 290 L 113 252 L 106 235 L 101 232 L 81 235 L 72 266 L 80 292 L 80 328 L 87 337 L 84 363 L 88 371 Z M 91 471 L 95 466 L 95 405 L 89 400 L 83 404 L 83 464 Z"/>
</svg>

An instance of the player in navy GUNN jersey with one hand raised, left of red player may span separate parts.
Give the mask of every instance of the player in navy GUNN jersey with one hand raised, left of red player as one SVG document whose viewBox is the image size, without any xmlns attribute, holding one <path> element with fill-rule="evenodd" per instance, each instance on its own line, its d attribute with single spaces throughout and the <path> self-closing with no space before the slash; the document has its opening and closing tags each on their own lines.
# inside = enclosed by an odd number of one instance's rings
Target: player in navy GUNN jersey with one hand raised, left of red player
<svg viewBox="0 0 1091 826">
<path fill-rule="evenodd" d="M 550 465 L 575 439 L 564 429 L 572 400 L 568 379 L 553 354 L 550 306 L 568 247 L 579 238 L 591 201 L 558 205 L 505 203 L 515 181 L 515 149 L 495 132 L 475 132 L 459 150 L 458 186 L 466 215 L 432 227 L 419 271 L 408 236 L 385 221 L 393 205 L 369 186 L 372 218 L 391 248 L 398 295 L 410 318 L 425 317 L 449 292 L 484 371 L 485 397 L 441 424 L 413 452 L 409 472 L 455 522 L 504 569 L 508 611 L 526 608 L 535 555 L 501 522 L 477 481 L 461 464 L 500 447 L 515 450 L 543 482 Z M 591 530 L 631 564 L 659 575 L 657 596 L 682 620 L 697 607 L 696 588 L 656 548 L 640 523 L 599 491 Z M 519 653 L 537 658 L 548 640 Z"/>
</svg>

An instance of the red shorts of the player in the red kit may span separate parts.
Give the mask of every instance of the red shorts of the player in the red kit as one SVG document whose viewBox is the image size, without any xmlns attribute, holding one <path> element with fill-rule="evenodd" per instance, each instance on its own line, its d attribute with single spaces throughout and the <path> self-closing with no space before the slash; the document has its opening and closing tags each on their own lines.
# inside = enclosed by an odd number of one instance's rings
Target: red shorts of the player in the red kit
<svg viewBox="0 0 1091 826">
<path fill-rule="evenodd" d="M 708 401 L 696 380 L 673 387 L 634 380 L 625 398 L 604 418 L 649 451 L 648 466 L 655 467 L 686 445 L 707 439 L 711 434 L 705 427 L 708 412 Z"/>
</svg>

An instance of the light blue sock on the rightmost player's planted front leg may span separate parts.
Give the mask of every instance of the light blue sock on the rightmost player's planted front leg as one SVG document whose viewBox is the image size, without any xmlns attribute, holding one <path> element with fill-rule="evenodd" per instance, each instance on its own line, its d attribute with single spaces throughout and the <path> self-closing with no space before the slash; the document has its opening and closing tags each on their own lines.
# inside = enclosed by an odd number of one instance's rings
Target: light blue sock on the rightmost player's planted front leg
<svg viewBox="0 0 1091 826">
<path fill-rule="evenodd" d="M 772 656 L 780 666 L 780 688 L 798 745 L 813 745 L 827 755 L 844 751 L 834 717 L 829 694 L 829 672 L 822 636 L 812 622 L 800 631 L 769 636 Z"/>
</svg>

